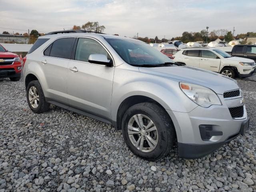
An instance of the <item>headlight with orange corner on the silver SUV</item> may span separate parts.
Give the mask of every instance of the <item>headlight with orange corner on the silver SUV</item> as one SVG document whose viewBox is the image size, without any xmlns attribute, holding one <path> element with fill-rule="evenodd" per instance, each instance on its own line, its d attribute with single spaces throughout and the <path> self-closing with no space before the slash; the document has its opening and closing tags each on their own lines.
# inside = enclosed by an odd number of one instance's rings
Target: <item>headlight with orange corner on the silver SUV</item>
<svg viewBox="0 0 256 192">
<path fill-rule="evenodd" d="M 180 82 L 180 88 L 186 96 L 202 107 L 222 105 L 217 94 L 209 88 L 183 82 Z"/>
</svg>

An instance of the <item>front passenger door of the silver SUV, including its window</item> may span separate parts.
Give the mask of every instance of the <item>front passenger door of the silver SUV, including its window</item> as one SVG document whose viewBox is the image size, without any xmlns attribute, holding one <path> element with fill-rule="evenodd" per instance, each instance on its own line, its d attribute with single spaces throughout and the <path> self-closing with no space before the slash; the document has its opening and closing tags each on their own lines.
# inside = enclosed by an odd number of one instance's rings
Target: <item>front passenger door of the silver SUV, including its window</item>
<svg viewBox="0 0 256 192">
<path fill-rule="evenodd" d="M 114 67 L 88 62 L 90 54 L 105 54 L 108 58 L 110 55 L 100 42 L 91 38 L 79 38 L 75 46 L 74 58 L 68 64 L 70 107 L 110 119 Z"/>
</svg>

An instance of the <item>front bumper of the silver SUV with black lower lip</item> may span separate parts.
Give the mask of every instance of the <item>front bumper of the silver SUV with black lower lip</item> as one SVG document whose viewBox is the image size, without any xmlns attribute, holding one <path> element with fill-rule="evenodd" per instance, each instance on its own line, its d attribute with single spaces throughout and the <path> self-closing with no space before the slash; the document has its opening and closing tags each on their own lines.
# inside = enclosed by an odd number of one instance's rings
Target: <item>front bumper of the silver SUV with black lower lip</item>
<svg viewBox="0 0 256 192">
<path fill-rule="evenodd" d="M 200 158 L 240 135 L 242 125 L 249 119 L 246 107 L 241 118 L 232 118 L 229 108 L 244 105 L 242 97 L 224 100 L 223 95 L 218 96 L 222 105 L 198 106 L 188 113 L 167 110 L 176 130 L 180 157 Z M 205 140 L 200 133 L 201 125 L 210 125 L 218 134 Z"/>
</svg>

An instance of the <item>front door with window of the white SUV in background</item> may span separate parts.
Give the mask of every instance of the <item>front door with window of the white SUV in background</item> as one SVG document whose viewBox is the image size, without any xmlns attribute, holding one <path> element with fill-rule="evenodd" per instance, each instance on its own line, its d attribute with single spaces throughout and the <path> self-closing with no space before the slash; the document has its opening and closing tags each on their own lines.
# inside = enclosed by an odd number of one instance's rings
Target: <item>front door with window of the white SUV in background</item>
<svg viewBox="0 0 256 192">
<path fill-rule="evenodd" d="M 210 50 L 201 50 L 200 68 L 219 72 L 220 58 Z"/>
</svg>

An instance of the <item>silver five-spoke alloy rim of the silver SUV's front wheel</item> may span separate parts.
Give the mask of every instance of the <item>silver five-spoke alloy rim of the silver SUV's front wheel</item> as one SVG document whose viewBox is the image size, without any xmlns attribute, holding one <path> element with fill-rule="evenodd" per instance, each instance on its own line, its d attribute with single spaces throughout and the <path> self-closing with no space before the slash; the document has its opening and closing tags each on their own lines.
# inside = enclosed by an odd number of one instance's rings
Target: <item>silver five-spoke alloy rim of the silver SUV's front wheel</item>
<svg viewBox="0 0 256 192">
<path fill-rule="evenodd" d="M 158 144 L 156 125 L 143 114 L 136 114 L 130 118 L 128 136 L 134 147 L 142 152 L 151 152 Z"/>
</svg>

